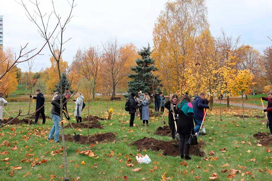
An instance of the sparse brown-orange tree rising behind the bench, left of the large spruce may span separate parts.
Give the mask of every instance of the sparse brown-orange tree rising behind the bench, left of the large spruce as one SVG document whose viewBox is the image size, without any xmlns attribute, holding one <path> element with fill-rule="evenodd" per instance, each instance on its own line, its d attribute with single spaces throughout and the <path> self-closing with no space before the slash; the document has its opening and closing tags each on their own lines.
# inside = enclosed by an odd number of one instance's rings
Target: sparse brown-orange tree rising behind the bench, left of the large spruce
<svg viewBox="0 0 272 181">
<path fill-rule="evenodd" d="M 130 55 L 122 53 L 123 46 L 119 45 L 117 39 L 108 40 L 102 44 L 102 62 L 104 82 L 112 88 L 112 96 L 115 97 L 116 89 L 121 87 L 121 82 L 127 74 L 125 63 Z"/>
</svg>

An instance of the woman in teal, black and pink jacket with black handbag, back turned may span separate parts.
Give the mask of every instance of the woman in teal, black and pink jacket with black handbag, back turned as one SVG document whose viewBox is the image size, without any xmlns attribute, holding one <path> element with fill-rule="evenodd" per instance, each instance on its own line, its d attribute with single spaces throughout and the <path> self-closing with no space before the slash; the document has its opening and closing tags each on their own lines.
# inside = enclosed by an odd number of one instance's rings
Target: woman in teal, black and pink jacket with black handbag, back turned
<svg viewBox="0 0 272 181">
<path fill-rule="evenodd" d="M 184 158 L 184 143 L 188 140 L 190 134 L 194 134 L 193 105 L 190 103 L 188 94 L 184 94 L 177 106 L 176 114 L 179 115 L 177 122 L 177 133 L 180 135 L 180 157 Z M 185 144 L 185 160 L 191 160 L 189 157 L 190 145 Z"/>
</svg>

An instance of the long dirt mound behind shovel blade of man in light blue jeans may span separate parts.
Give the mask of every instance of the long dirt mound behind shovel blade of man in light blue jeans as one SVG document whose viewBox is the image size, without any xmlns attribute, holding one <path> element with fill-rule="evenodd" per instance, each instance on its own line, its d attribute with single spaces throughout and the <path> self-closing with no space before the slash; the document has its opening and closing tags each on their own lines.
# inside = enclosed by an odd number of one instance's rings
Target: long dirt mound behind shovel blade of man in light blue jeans
<svg viewBox="0 0 272 181">
<path fill-rule="evenodd" d="M 60 136 L 61 137 L 61 136 Z M 66 141 L 74 141 L 73 135 L 64 135 Z M 114 133 L 108 132 L 108 133 L 103 133 L 103 134 L 97 134 L 97 135 L 91 135 L 89 136 L 89 142 L 87 141 L 87 136 L 80 136 L 80 144 L 96 144 L 96 141 L 101 142 L 101 141 L 112 141 L 115 139 Z M 62 138 L 60 138 L 61 140 Z"/>
</svg>

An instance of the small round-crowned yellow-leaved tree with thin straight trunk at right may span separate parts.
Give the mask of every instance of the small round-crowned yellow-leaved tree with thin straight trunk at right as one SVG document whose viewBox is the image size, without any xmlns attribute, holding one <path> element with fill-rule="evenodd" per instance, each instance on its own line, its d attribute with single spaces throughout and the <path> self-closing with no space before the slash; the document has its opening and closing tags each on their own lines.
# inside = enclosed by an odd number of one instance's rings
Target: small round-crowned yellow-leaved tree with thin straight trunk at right
<svg viewBox="0 0 272 181">
<path fill-rule="evenodd" d="M 244 125 L 244 97 L 243 95 L 247 92 L 252 83 L 254 75 L 248 69 L 238 70 L 237 73 L 233 74 L 230 79 L 228 79 L 228 87 L 231 89 L 233 95 L 242 96 L 242 108 L 243 108 L 243 127 Z"/>
</svg>

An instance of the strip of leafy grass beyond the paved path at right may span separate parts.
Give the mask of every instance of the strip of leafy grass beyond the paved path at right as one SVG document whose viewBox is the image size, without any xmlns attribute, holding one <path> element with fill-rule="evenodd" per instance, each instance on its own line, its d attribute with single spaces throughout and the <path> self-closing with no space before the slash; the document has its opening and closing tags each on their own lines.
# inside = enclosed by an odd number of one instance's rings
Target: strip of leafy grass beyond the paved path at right
<svg viewBox="0 0 272 181">
<path fill-rule="evenodd" d="M 244 104 L 248 104 L 248 105 L 255 105 L 255 106 L 262 106 L 261 97 L 267 97 L 267 94 L 256 94 L 255 96 L 250 95 L 248 96 L 248 100 L 245 100 L 244 97 Z M 216 101 L 219 101 L 218 99 L 216 99 Z M 242 103 L 242 97 L 230 97 L 229 101 L 231 103 Z M 222 102 L 227 102 L 227 97 L 224 97 Z M 264 106 L 267 106 L 267 101 L 264 101 Z"/>
</svg>

